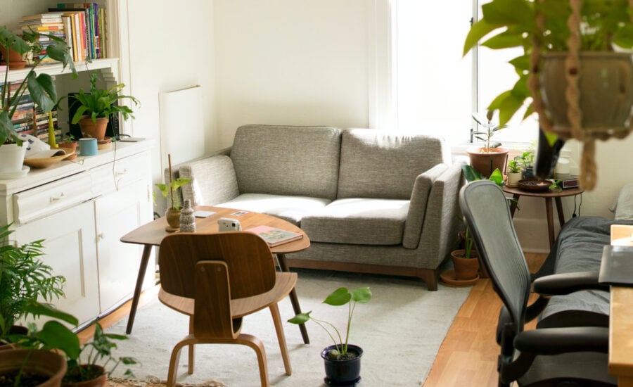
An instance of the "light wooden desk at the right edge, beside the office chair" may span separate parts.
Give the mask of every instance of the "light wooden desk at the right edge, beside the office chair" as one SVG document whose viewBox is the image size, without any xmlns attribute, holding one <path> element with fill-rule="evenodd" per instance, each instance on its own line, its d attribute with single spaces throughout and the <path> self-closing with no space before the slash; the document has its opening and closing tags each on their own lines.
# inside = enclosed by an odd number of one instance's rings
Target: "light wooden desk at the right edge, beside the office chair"
<svg viewBox="0 0 633 387">
<path fill-rule="evenodd" d="M 611 226 L 613 246 L 633 246 L 633 226 Z M 633 386 L 633 288 L 611 286 L 609 317 L 609 374 L 618 386 Z"/>
</svg>

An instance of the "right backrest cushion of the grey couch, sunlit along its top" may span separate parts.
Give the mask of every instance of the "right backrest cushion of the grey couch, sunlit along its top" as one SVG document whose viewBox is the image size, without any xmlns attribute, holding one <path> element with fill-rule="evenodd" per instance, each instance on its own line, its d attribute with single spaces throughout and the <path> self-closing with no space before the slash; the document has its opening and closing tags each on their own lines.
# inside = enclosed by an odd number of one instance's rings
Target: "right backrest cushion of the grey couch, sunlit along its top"
<svg viewBox="0 0 633 387">
<path fill-rule="evenodd" d="M 416 177 L 441 163 L 450 160 L 438 137 L 347 129 L 341 137 L 337 197 L 409 199 Z"/>
</svg>

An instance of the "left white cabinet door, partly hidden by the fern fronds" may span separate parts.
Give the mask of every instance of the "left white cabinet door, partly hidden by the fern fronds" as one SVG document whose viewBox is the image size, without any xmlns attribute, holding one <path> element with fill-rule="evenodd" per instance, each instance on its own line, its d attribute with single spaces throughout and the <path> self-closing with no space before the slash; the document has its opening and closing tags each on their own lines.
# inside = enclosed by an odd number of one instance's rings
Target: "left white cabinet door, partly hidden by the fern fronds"
<svg viewBox="0 0 633 387">
<path fill-rule="evenodd" d="M 23 224 L 14 235 L 20 244 L 44 239 L 42 261 L 66 279 L 65 297 L 53 304 L 77 317 L 79 324 L 94 319 L 99 311 L 94 203 L 87 201 Z"/>
</svg>

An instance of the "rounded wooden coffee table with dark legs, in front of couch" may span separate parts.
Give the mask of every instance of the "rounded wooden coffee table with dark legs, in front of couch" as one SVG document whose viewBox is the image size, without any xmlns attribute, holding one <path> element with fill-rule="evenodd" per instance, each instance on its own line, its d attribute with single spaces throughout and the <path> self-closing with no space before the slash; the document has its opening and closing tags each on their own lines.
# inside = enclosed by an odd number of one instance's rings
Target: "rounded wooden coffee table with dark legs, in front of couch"
<svg viewBox="0 0 633 387">
<path fill-rule="evenodd" d="M 215 212 L 215 214 L 211 215 L 210 217 L 196 218 L 196 232 L 217 232 L 217 220 L 221 217 L 231 217 L 240 221 L 240 223 L 242 224 L 242 229 L 265 225 L 303 234 L 302 239 L 283 243 L 279 246 L 274 246 L 271 248 L 272 253 L 276 254 L 277 256 L 279 267 L 284 272 L 288 272 L 288 265 L 286 264 L 286 254 L 296 253 L 298 251 L 305 250 L 310 246 L 310 240 L 305 232 L 303 232 L 299 227 L 296 227 L 294 224 L 279 219 L 279 217 L 260 214 L 258 212 L 246 212 L 244 215 L 235 216 L 231 214 L 239 210 L 233 208 L 208 207 L 204 205 L 200 205 L 195 209 Z M 136 243 L 144 246 L 143 255 L 141 255 L 141 264 L 139 265 L 139 274 L 136 277 L 136 288 L 134 288 L 132 307 L 129 310 L 129 317 L 127 319 L 127 334 L 132 333 L 134 317 L 136 316 L 136 307 L 139 306 L 139 298 L 141 296 L 143 277 L 145 277 L 145 271 L 147 269 L 147 264 L 152 252 L 152 248 L 153 246 L 160 246 L 160 242 L 162 241 L 162 239 L 170 234 L 165 231 L 166 226 L 167 220 L 165 220 L 165 217 L 160 217 L 159 219 L 154 220 L 153 222 L 149 222 L 148 224 L 145 224 L 138 229 L 135 229 L 134 231 L 130 231 L 128 234 L 125 234 L 121 237 L 122 242 Z M 301 307 L 299 305 L 299 299 L 297 297 L 297 292 L 295 291 L 295 289 L 290 292 L 290 302 L 293 304 L 293 309 L 295 310 L 295 313 L 300 313 Z M 305 329 L 305 325 L 301 324 L 299 328 L 301 330 L 301 336 L 303 336 L 304 343 L 308 344 L 310 340 L 307 334 L 307 330 Z"/>
</svg>

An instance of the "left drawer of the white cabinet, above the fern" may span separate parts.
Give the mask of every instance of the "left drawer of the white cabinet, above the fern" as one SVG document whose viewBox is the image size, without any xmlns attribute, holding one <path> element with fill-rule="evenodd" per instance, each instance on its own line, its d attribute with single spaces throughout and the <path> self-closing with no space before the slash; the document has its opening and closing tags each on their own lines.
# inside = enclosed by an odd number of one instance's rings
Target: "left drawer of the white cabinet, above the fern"
<svg viewBox="0 0 633 387">
<path fill-rule="evenodd" d="M 69 208 L 94 197 L 91 178 L 79 173 L 13 195 L 13 215 L 20 224 Z"/>
</svg>

